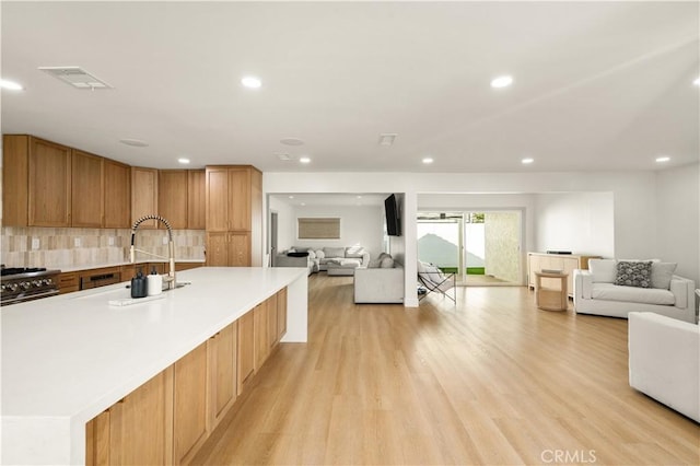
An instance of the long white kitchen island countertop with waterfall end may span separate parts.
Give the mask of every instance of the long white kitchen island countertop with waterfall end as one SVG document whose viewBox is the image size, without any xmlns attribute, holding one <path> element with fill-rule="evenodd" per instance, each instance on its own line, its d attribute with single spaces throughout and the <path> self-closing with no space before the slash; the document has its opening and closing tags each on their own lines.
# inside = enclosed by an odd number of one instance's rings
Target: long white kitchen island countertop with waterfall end
<svg viewBox="0 0 700 466">
<path fill-rule="evenodd" d="M 186 287 L 115 306 L 126 283 L 2 307 L 2 464 L 84 464 L 85 424 L 287 289 L 282 342 L 305 342 L 296 268 L 203 267 Z"/>
</svg>

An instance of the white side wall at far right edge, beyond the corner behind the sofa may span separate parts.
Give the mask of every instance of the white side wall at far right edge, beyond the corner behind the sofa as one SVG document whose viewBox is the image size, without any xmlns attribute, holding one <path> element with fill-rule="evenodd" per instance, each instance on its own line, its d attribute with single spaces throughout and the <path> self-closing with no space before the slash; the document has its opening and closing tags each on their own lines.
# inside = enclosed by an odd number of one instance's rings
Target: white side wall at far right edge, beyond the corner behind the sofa
<svg viewBox="0 0 700 466">
<path fill-rule="evenodd" d="M 700 288 L 700 164 L 656 173 L 655 257 Z"/>
</svg>

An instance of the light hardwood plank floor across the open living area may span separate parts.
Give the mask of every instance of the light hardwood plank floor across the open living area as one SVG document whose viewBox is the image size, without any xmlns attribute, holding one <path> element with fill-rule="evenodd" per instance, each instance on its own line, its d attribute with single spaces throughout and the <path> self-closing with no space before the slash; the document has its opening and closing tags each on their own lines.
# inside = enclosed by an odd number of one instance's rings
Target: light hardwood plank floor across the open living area
<svg viewBox="0 0 700 466">
<path fill-rule="evenodd" d="M 629 387 L 627 321 L 525 287 L 427 300 L 354 305 L 351 277 L 310 277 L 308 343 L 281 346 L 195 464 L 700 463 L 700 427 Z"/>
</svg>

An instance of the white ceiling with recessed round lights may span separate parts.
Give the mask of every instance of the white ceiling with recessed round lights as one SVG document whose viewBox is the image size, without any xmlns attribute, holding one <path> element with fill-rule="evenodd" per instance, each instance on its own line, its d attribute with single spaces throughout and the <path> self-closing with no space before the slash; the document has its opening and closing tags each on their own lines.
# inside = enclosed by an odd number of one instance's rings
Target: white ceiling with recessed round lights
<svg viewBox="0 0 700 466">
<path fill-rule="evenodd" d="M 2 91 L 2 132 L 135 165 L 188 156 L 192 167 L 266 172 L 542 172 L 699 159 L 695 1 L 1 9 L 2 78 L 25 86 Z M 37 70 L 51 66 L 80 66 L 115 89 L 79 91 Z M 503 73 L 514 85 L 491 89 Z M 242 88 L 247 74 L 262 88 Z M 377 143 L 382 132 L 398 133 L 393 147 Z M 422 165 L 425 155 L 435 162 Z"/>
</svg>

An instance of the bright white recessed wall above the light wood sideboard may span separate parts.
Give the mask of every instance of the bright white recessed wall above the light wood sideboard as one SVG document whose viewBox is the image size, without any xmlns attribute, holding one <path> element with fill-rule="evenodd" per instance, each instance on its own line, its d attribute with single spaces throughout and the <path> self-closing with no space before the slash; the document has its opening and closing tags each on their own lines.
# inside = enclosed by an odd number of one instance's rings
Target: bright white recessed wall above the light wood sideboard
<svg viewBox="0 0 700 466">
<path fill-rule="evenodd" d="M 535 195 L 535 251 L 615 257 L 612 193 Z"/>
</svg>

